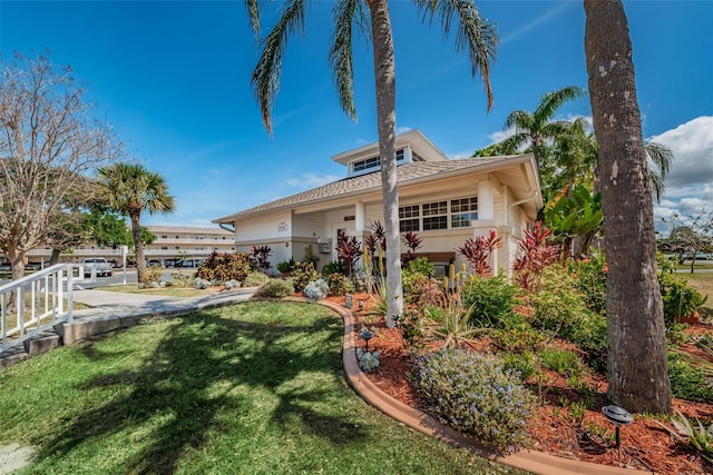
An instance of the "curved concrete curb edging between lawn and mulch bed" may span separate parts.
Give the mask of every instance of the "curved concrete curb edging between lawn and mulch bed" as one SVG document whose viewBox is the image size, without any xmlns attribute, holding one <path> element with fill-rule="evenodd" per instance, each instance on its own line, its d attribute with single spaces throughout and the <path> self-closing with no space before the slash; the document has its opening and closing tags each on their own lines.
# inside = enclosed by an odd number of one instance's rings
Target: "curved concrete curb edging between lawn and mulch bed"
<svg viewBox="0 0 713 475">
<path fill-rule="evenodd" d="M 307 301 L 297 299 L 297 301 Z M 646 474 L 634 468 L 599 465 L 590 462 L 575 461 L 543 452 L 520 449 L 514 454 L 502 455 L 492 448 L 478 444 L 456 429 L 441 424 L 434 417 L 414 409 L 400 400 L 383 393 L 373 384 L 359 367 L 356 362 L 356 343 L 354 337 L 354 315 L 346 308 L 330 301 L 320 301 L 321 305 L 336 311 L 344 321 L 344 340 L 342 345 L 342 360 L 344 376 L 349 385 L 369 404 L 385 415 L 406 424 L 431 437 L 436 437 L 456 447 L 466 448 L 471 453 L 492 462 L 506 464 L 541 475 L 600 475 L 600 474 Z"/>
</svg>

